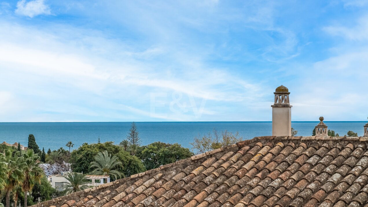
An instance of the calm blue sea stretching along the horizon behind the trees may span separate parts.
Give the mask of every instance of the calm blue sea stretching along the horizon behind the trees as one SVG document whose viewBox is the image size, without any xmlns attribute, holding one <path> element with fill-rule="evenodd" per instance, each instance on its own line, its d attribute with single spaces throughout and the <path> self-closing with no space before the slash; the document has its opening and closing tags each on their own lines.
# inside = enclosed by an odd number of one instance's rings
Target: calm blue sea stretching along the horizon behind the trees
<svg viewBox="0 0 368 207">
<path fill-rule="evenodd" d="M 325 122 L 328 128 L 335 130 L 340 136 L 347 131 L 363 135 L 365 121 L 336 121 Z M 28 135 L 35 135 L 39 147 L 47 150 L 65 147 L 72 141 L 74 149 L 83 144 L 96 143 L 98 137 L 101 142 L 113 141 L 120 143 L 127 137 L 130 122 L 74 122 L 74 123 L 0 123 L 0 143 L 10 144 L 20 142 L 27 146 Z M 292 122 L 291 126 L 298 131 L 298 136 L 309 136 L 318 122 Z M 161 141 L 179 143 L 190 148 L 190 142 L 195 136 L 217 131 L 238 131 L 244 139 L 268 136 L 272 134 L 271 122 L 137 122 L 138 131 L 143 144 Z M 66 148 L 66 147 L 65 147 Z"/>
</svg>

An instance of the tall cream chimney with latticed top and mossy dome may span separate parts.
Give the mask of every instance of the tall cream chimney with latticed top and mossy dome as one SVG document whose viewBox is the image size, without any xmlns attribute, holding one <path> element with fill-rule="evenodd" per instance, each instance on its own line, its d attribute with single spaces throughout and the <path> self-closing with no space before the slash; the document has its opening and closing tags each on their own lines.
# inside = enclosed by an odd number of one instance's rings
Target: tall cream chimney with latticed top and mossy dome
<svg viewBox="0 0 368 207">
<path fill-rule="evenodd" d="M 281 85 L 275 91 L 272 107 L 272 136 L 291 136 L 291 106 L 289 89 Z"/>
</svg>

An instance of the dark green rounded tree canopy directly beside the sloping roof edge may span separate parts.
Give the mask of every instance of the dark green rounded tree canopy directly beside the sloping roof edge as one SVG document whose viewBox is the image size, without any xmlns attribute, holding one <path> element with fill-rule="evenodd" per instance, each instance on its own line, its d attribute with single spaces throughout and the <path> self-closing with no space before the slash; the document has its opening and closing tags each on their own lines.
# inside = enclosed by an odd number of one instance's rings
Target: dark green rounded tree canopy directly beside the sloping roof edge
<svg viewBox="0 0 368 207">
<path fill-rule="evenodd" d="M 194 155 L 188 148 L 183 148 L 180 144 L 163 142 L 153 142 L 152 144 L 139 147 L 137 151 L 137 156 L 143 161 L 147 170 L 190 158 Z"/>
</svg>

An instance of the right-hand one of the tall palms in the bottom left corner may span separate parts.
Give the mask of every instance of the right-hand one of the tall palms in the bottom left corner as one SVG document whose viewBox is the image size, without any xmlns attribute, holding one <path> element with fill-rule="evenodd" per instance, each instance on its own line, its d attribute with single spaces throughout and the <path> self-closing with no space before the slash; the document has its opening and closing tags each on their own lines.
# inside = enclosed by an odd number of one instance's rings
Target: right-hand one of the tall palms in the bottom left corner
<svg viewBox="0 0 368 207">
<path fill-rule="evenodd" d="M 35 182 L 41 182 L 43 170 L 37 164 L 37 160 L 40 157 L 33 154 L 33 150 L 27 150 L 23 158 L 24 165 L 22 169 L 24 173 L 24 182 L 22 184 L 22 190 L 24 192 L 24 207 L 27 207 L 28 191 L 32 189 Z"/>
</svg>

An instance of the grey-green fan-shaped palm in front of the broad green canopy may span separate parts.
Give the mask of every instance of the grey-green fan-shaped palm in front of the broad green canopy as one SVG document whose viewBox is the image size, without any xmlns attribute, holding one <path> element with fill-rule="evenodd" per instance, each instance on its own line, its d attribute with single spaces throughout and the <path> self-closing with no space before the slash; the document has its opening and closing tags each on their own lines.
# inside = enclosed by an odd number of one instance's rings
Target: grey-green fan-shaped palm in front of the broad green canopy
<svg viewBox="0 0 368 207">
<path fill-rule="evenodd" d="M 95 168 L 92 171 L 93 175 L 109 175 L 115 179 L 123 175 L 123 173 L 114 169 L 116 166 L 121 165 L 121 162 L 117 160 L 115 155 L 109 155 L 106 150 L 102 153 L 99 152 L 94 159 L 95 161 L 91 162 L 91 168 Z"/>
</svg>

